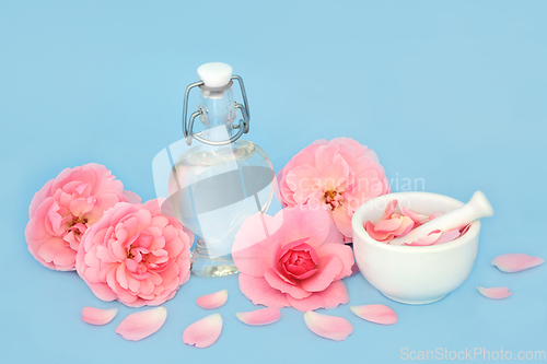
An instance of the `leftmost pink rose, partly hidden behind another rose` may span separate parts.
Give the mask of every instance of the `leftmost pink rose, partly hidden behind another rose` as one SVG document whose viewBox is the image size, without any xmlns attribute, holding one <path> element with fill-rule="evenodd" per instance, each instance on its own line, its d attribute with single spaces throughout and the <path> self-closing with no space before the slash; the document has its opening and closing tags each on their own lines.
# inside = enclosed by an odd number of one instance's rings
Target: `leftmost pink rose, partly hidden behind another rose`
<svg viewBox="0 0 547 364">
<path fill-rule="evenodd" d="M 66 168 L 34 195 L 25 228 L 28 250 L 42 265 L 74 270 L 74 257 L 85 231 L 117 202 L 140 201 L 124 191 L 104 165 Z"/>
</svg>

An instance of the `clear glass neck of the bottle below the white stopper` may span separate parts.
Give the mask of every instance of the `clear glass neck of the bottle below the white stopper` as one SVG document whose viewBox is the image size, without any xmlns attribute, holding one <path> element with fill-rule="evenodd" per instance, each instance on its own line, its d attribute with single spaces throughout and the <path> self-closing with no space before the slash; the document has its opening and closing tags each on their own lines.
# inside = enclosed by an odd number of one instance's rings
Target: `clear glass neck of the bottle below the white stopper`
<svg viewBox="0 0 547 364">
<path fill-rule="evenodd" d="M 199 108 L 203 124 L 203 137 L 211 141 L 222 141 L 234 134 L 235 103 L 232 87 L 220 91 L 201 90 Z"/>
</svg>

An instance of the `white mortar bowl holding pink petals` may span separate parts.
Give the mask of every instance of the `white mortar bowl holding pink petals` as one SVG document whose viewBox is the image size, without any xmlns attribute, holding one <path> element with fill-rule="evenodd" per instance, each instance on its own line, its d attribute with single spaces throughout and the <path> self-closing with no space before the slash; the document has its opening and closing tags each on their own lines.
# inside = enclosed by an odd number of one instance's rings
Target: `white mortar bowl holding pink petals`
<svg viewBox="0 0 547 364">
<path fill-rule="evenodd" d="M 392 200 L 422 214 L 449 212 L 464 203 L 429 192 L 397 192 L 363 203 L 353 214 L 353 251 L 363 277 L 387 298 L 422 305 L 444 298 L 472 272 L 477 257 L 480 222 L 450 243 L 431 246 L 400 246 L 376 242 L 363 224 L 376 223 Z"/>
</svg>

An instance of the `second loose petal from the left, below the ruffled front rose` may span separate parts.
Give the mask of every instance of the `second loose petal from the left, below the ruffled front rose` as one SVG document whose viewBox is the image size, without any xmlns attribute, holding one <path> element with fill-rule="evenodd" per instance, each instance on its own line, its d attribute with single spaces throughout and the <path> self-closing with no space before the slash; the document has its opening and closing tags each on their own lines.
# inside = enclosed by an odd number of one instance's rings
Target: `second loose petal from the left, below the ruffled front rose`
<svg viewBox="0 0 547 364">
<path fill-rule="evenodd" d="M 126 340 L 139 341 L 160 330 L 166 318 L 164 307 L 141 310 L 124 318 L 116 332 Z"/>
</svg>

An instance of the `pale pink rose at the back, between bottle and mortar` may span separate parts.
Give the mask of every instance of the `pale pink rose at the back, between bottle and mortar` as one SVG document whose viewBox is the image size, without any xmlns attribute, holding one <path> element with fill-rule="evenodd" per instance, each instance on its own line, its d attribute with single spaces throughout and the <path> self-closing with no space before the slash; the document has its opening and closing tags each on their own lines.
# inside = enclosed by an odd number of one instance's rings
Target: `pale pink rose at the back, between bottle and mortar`
<svg viewBox="0 0 547 364">
<path fill-rule="evenodd" d="M 391 191 L 376 153 L 350 138 L 316 140 L 287 163 L 277 180 L 283 207 L 324 207 L 345 242 L 352 240 L 354 211 Z"/>
</svg>

